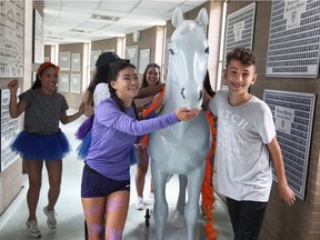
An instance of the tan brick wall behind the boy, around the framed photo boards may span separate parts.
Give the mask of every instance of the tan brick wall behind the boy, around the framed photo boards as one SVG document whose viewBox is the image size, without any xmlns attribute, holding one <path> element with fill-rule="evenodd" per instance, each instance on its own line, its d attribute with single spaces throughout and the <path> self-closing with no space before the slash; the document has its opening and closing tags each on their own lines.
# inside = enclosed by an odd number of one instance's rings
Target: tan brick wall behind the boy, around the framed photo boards
<svg viewBox="0 0 320 240">
<path fill-rule="evenodd" d="M 232 13 L 252 1 L 230 1 L 228 13 Z M 266 60 L 269 39 L 271 1 L 257 1 L 253 51 L 257 54 L 258 81 L 251 92 L 262 99 L 264 89 L 320 93 L 320 79 L 266 77 Z M 263 240 L 319 240 L 320 239 L 320 167 L 319 167 L 319 103 L 316 107 L 311 157 L 307 181 L 306 201 L 297 198 L 289 208 L 279 201 L 277 183 L 273 182 L 270 201 L 259 239 Z"/>
</svg>

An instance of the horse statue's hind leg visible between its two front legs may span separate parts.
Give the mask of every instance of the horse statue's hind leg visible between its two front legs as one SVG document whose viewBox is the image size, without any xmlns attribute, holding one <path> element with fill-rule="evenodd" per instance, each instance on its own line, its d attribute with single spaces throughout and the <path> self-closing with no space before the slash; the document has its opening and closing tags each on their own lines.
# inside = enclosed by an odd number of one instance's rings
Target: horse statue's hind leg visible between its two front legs
<svg viewBox="0 0 320 240">
<path fill-rule="evenodd" d="M 176 228 L 186 228 L 184 207 L 186 207 L 186 188 L 187 176 L 179 174 L 179 197 L 174 211 L 170 214 L 169 221 Z"/>
</svg>

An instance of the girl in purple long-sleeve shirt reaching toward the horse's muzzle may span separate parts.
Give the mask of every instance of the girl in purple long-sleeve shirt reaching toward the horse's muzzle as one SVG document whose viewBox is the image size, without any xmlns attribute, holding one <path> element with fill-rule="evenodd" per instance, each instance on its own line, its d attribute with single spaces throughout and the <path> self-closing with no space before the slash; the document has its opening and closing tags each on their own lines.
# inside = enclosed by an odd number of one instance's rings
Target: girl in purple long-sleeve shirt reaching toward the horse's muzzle
<svg viewBox="0 0 320 240">
<path fill-rule="evenodd" d="M 109 76 L 110 98 L 96 110 L 81 183 L 90 240 L 102 239 L 103 231 L 106 240 L 122 239 L 130 199 L 129 153 L 137 137 L 190 120 L 199 112 L 180 108 L 167 116 L 138 121 L 132 100 L 139 87 L 133 64 L 113 66 Z"/>
</svg>

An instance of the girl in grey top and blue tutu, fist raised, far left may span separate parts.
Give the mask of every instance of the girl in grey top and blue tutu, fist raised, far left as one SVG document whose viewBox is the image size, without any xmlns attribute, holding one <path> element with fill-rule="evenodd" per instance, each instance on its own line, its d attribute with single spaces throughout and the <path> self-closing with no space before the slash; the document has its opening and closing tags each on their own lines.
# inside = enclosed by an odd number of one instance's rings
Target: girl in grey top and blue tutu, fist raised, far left
<svg viewBox="0 0 320 240">
<path fill-rule="evenodd" d="M 27 167 L 29 218 L 26 224 L 31 237 L 41 236 L 36 211 L 41 189 L 43 162 L 50 186 L 48 204 L 43 211 L 47 216 L 48 227 L 54 229 L 57 226 L 54 206 L 60 194 L 62 158 L 70 151 L 69 141 L 61 132 L 59 121 L 67 124 L 78 119 L 84 111 L 82 103 L 77 113 L 67 116 L 68 103 L 64 97 L 56 90 L 58 72 L 58 66 L 51 62 L 42 63 L 38 69 L 36 82 L 31 89 L 19 96 L 18 102 L 18 80 L 13 79 L 8 83 L 11 118 L 18 118 L 24 112 L 23 130 L 11 143 L 11 149 L 21 156 Z"/>
</svg>

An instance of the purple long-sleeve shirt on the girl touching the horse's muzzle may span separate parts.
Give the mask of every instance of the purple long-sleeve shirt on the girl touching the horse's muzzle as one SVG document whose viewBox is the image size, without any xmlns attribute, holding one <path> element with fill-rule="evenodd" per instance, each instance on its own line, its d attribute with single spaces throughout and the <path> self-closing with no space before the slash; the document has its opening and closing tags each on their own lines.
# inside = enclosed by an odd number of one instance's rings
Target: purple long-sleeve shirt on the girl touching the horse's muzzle
<svg viewBox="0 0 320 240">
<path fill-rule="evenodd" d="M 113 99 L 101 102 L 96 110 L 91 146 L 86 163 L 97 172 L 114 179 L 130 179 L 130 150 L 138 136 L 179 122 L 174 112 L 138 121 L 132 107 L 122 112 Z"/>
</svg>

